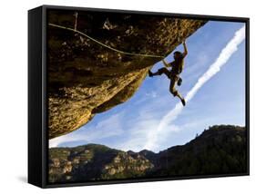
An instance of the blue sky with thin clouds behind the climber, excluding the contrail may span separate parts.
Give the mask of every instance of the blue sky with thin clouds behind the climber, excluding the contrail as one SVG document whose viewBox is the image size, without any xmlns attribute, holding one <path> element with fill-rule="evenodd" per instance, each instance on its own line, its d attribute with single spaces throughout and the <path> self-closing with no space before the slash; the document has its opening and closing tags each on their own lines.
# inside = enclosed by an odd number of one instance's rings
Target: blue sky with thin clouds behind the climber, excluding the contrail
<svg viewBox="0 0 256 194">
<path fill-rule="evenodd" d="M 242 26 L 241 23 L 209 22 L 187 39 L 189 54 L 181 73 L 183 82 L 178 87 L 181 94 L 186 95 L 191 90 Z M 179 45 L 177 50 L 183 51 L 183 47 Z M 172 54 L 167 57 L 167 61 L 171 60 Z M 162 66 L 161 62 L 156 63 L 152 71 Z M 197 133 L 211 125 L 244 126 L 244 41 L 220 72 L 202 85 L 176 120 L 156 133 L 159 122 L 178 102 L 179 99 L 169 93 L 169 79 L 166 76 L 147 77 L 128 102 L 97 114 L 79 130 L 53 139 L 50 145 L 62 147 L 98 143 L 120 150 L 138 151 L 147 149 L 150 134 L 154 134 L 157 141 L 150 150 L 158 152 L 192 140 Z"/>
</svg>

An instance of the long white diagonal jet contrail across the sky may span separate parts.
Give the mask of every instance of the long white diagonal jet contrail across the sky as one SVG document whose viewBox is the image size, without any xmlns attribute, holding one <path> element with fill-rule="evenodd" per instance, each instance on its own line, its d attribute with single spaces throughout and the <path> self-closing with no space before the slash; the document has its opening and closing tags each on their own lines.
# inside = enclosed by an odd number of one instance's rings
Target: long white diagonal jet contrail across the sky
<svg viewBox="0 0 256 194">
<path fill-rule="evenodd" d="M 212 76 L 214 76 L 216 73 L 220 71 L 220 68 L 227 63 L 227 61 L 230 59 L 230 56 L 235 53 L 238 49 L 239 44 L 245 39 L 245 26 L 241 27 L 240 30 L 238 30 L 233 38 L 230 40 L 230 42 L 222 49 L 220 52 L 220 55 L 215 60 L 214 63 L 212 63 L 207 70 L 206 73 L 203 73 L 198 82 L 192 87 L 192 89 L 187 93 L 185 99 L 186 102 L 189 102 L 194 95 L 200 90 L 200 88 L 203 86 L 203 84 L 210 80 Z M 148 141 L 146 142 L 145 149 L 152 150 L 158 141 L 158 134 L 160 131 L 168 127 L 168 125 L 176 120 L 176 118 L 179 116 L 179 114 L 182 112 L 183 106 L 181 103 L 177 103 L 175 108 L 168 112 L 159 122 L 158 129 L 156 131 L 151 131 L 148 134 Z"/>
</svg>

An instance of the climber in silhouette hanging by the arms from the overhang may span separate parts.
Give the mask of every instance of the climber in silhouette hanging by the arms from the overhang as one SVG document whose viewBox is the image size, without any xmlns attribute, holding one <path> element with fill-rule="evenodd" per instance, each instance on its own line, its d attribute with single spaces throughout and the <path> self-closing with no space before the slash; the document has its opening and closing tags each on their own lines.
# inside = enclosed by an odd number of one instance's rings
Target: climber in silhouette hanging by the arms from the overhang
<svg viewBox="0 0 256 194">
<path fill-rule="evenodd" d="M 158 72 L 152 73 L 150 70 L 148 71 L 148 76 L 153 77 L 155 75 L 161 75 L 162 73 L 166 74 L 167 77 L 170 80 L 169 83 L 169 92 L 175 97 L 178 96 L 180 101 L 182 102 L 183 106 L 186 105 L 185 99 L 181 96 L 181 94 L 176 90 L 175 85 L 176 83 L 178 85 L 181 85 L 182 79 L 179 77 L 179 74 L 182 73 L 182 70 L 184 68 L 184 58 L 188 54 L 188 49 L 186 42 L 182 42 L 184 47 L 184 52 L 181 53 L 179 51 L 174 52 L 173 58 L 174 61 L 171 63 L 167 63 L 164 59 L 162 62 L 166 67 L 160 68 Z M 171 70 L 168 69 L 168 67 L 171 67 Z"/>
</svg>

